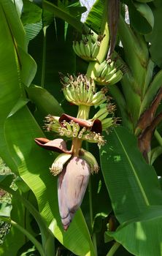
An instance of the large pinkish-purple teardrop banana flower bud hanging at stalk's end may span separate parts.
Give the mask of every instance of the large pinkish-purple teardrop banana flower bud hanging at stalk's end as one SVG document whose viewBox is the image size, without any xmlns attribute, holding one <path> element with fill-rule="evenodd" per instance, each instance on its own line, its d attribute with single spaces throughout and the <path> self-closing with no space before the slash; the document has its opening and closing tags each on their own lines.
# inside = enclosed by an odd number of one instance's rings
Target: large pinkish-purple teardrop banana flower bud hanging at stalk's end
<svg viewBox="0 0 162 256">
<path fill-rule="evenodd" d="M 64 230 L 82 203 L 89 176 L 90 166 L 80 157 L 72 157 L 58 176 L 58 206 Z"/>
</svg>

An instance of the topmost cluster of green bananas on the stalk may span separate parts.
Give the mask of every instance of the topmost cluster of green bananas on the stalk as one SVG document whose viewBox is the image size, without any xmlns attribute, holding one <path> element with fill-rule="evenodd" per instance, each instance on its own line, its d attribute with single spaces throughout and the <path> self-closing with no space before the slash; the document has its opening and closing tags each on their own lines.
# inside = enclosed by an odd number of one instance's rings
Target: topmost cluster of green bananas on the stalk
<svg viewBox="0 0 162 256">
<path fill-rule="evenodd" d="M 86 61 L 96 61 L 96 57 L 99 53 L 101 40 L 103 36 L 99 35 L 96 42 L 92 42 L 92 33 L 88 35 L 82 34 L 82 39 L 80 42 L 73 42 L 73 49 L 77 56 L 85 59 Z"/>
</svg>

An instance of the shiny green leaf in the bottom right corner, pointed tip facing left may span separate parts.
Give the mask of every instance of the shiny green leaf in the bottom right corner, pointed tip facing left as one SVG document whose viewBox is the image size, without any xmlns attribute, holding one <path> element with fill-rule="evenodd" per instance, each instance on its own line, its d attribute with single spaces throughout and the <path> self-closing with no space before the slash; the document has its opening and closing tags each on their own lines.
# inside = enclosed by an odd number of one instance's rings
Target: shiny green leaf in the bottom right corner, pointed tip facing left
<svg viewBox="0 0 162 256">
<path fill-rule="evenodd" d="M 140 219 L 126 222 L 115 232 L 107 232 L 136 256 L 162 255 L 162 207 L 148 206 Z"/>
</svg>

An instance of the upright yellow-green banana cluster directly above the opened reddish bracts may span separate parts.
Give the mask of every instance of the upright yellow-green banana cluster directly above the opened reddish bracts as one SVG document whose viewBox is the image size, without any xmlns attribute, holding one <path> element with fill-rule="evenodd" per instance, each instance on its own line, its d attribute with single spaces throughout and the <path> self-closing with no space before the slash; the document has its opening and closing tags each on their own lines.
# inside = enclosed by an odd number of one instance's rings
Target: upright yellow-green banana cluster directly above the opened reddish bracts
<svg viewBox="0 0 162 256">
<path fill-rule="evenodd" d="M 66 100 L 74 105 L 101 105 L 107 101 L 105 91 L 96 92 L 93 79 L 87 78 L 86 75 L 77 77 L 70 75 L 69 78 L 63 78 L 63 94 Z"/>
</svg>

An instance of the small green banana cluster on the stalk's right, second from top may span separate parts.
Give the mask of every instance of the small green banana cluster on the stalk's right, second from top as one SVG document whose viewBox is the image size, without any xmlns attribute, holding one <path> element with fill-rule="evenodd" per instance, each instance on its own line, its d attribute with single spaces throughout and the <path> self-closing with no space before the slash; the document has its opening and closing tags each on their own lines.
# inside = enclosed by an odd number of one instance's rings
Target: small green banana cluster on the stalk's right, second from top
<svg viewBox="0 0 162 256">
<path fill-rule="evenodd" d="M 107 86 L 119 82 L 123 77 L 123 72 L 115 67 L 115 61 L 103 61 L 96 69 L 96 82 L 99 85 Z"/>
</svg>

